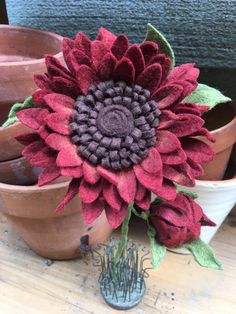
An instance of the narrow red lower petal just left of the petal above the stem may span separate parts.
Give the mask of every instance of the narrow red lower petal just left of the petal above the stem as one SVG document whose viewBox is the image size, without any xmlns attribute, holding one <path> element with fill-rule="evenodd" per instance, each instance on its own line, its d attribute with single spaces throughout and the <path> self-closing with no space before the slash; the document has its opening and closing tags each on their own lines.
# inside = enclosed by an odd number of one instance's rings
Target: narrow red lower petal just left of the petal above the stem
<svg viewBox="0 0 236 314">
<path fill-rule="evenodd" d="M 120 197 L 117 188 L 107 181 L 105 181 L 103 185 L 103 197 L 114 211 L 118 212 L 121 209 L 123 200 Z"/>
</svg>

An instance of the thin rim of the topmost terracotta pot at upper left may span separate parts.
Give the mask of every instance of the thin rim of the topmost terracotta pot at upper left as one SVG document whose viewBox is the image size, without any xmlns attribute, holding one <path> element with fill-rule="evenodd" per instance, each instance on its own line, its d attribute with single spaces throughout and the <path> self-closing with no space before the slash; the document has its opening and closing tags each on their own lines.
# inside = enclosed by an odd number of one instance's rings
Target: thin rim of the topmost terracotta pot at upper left
<svg viewBox="0 0 236 314">
<path fill-rule="evenodd" d="M 63 36 L 53 33 L 42 31 L 36 28 L 25 27 L 25 26 L 18 26 L 18 25 L 0 25 L 1 29 L 16 29 L 16 30 L 23 30 L 23 31 L 30 31 L 35 34 L 47 34 L 55 39 L 57 39 L 60 43 L 62 43 Z M 57 54 L 53 55 L 55 58 L 61 58 L 63 56 L 62 51 L 59 51 Z M 9 67 L 9 66 L 25 66 L 25 65 L 32 65 L 32 64 L 39 64 L 44 62 L 45 58 L 34 59 L 34 60 L 26 60 L 26 61 L 13 61 L 13 62 L 0 62 L 0 67 Z"/>
</svg>

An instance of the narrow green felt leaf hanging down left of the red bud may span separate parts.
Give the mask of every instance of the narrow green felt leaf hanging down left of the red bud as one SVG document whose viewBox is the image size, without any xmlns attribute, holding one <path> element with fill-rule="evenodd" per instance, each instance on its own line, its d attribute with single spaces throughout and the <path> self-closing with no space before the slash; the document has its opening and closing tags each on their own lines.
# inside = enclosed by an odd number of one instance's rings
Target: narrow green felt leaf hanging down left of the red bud
<svg viewBox="0 0 236 314">
<path fill-rule="evenodd" d="M 148 236 L 150 239 L 150 247 L 152 253 L 152 267 L 156 269 L 166 254 L 166 247 L 159 244 L 155 238 L 156 231 L 152 226 L 148 228 Z"/>
</svg>

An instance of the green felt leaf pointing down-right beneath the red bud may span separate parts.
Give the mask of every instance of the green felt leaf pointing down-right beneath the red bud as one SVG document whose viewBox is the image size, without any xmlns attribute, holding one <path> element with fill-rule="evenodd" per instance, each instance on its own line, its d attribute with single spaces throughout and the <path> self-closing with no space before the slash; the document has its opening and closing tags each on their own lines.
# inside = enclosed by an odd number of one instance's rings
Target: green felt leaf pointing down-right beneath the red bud
<svg viewBox="0 0 236 314">
<path fill-rule="evenodd" d="M 195 260 L 199 265 L 213 269 L 223 269 L 222 264 L 216 259 L 212 248 L 210 248 L 210 246 L 201 239 L 191 243 L 186 243 L 183 245 L 183 247 L 189 249 L 192 252 Z"/>
</svg>

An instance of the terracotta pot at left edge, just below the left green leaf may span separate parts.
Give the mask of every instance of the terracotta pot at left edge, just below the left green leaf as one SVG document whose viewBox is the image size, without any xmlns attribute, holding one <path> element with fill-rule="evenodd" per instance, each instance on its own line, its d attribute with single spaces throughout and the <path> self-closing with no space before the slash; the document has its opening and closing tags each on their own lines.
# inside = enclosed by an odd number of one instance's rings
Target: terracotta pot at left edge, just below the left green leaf
<svg viewBox="0 0 236 314">
<path fill-rule="evenodd" d="M 21 156 L 24 148 L 15 137 L 30 132 L 30 128 L 21 122 L 14 123 L 7 128 L 0 127 L 0 161 L 11 160 Z"/>
</svg>

